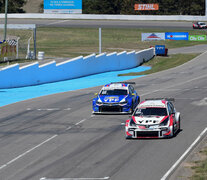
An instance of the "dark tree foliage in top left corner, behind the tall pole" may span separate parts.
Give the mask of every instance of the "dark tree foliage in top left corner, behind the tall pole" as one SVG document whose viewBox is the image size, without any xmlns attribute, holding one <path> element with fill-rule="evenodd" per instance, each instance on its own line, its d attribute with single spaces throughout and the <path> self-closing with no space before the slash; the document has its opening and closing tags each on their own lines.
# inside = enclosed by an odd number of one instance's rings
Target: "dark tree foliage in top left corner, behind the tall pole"
<svg viewBox="0 0 207 180">
<path fill-rule="evenodd" d="M 8 0 L 8 13 L 23 13 L 25 0 Z M 5 0 L 0 0 L 0 12 L 5 12 Z"/>
</svg>

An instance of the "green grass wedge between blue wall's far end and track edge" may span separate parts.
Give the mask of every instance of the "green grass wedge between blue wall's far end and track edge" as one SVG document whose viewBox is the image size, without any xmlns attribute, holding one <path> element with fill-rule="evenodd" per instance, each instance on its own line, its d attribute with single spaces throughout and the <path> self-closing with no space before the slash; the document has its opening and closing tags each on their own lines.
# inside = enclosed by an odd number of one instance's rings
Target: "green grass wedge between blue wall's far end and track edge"
<svg viewBox="0 0 207 180">
<path fill-rule="evenodd" d="M 137 76 L 152 74 L 184 64 L 198 55 L 199 54 L 174 54 L 170 56 L 155 56 L 152 60 L 143 64 L 145 66 L 151 66 L 152 68 L 150 70 L 139 73 L 131 72 L 127 74 L 119 74 L 119 76 Z"/>
</svg>

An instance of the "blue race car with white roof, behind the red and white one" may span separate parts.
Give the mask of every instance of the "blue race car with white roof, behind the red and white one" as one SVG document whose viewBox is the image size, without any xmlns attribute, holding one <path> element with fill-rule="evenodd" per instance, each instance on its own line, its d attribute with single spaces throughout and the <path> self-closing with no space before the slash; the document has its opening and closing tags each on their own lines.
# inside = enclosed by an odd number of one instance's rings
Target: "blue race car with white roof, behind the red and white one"
<svg viewBox="0 0 207 180">
<path fill-rule="evenodd" d="M 134 82 L 116 82 L 102 87 L 93 99 L 93 113 L 133 113 L 140 102 Z"/>
</svg>

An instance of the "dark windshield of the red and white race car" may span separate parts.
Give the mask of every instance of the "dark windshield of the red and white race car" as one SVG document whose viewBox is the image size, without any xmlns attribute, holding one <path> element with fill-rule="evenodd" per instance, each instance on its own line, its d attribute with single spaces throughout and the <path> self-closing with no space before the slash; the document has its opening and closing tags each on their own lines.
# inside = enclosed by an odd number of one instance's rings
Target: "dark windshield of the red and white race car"
<svg viewBox="0 0 207 180">
<path fill-rule="evenodd" d="M 167 116 L 166 108 L 139 108 L 134 116 Z"/>
</svg>

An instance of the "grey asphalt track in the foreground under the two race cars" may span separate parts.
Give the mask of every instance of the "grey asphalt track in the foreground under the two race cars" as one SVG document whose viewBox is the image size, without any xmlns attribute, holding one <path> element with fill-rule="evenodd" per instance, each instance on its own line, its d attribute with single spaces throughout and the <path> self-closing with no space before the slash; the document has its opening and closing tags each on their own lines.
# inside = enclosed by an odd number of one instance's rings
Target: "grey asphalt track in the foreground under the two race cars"
<svg viewBox="0 0 207 180">
<path fill-rule="evenodd" d="M 2 107 L 0 179 L 161 179 L 207 127 L 206 59 L 132 80 L 142 100 L 175 98 L 182 131 L 172 139 L 126 140 L 128 115 L 92 115 L 100 86 Z"/>
</svg>

